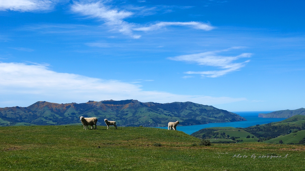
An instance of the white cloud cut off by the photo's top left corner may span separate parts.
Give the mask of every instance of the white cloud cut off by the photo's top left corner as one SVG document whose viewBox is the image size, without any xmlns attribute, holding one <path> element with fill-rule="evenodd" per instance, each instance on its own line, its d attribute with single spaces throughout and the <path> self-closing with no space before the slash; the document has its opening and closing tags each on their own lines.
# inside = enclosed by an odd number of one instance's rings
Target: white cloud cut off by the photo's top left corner
<svg viewBox="0 0 305 171">
<path fill-rule="evenodd" d="M 0 10 L 35 11 L 52 9 L 57 1 L 50 0 L 0 0 Z"/>
</svg>

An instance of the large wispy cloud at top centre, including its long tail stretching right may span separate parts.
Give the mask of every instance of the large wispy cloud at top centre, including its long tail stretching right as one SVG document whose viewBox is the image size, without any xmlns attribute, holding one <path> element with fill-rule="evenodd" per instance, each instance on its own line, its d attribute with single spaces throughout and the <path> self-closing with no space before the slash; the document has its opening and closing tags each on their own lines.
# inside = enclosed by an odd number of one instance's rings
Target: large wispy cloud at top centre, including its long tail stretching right
<svg viewBox="0 0 305 171">
<path fill-rule="evenodd" d="M 129 9 L 135 9 L 135 7 L 129 7 Z M 144 8 L 144 7 L 137 7 L 136 11 L 141 11 L 140 13 L 145 13 L 145 11 L 151 11 L 155 8 Z M 135 39 L 141 37 L 141 35 L 137 35 L 134 31 L 154 31 L 166 26 L 188 26 L 191 28 L 199 29 L 199 30 L 212 30 L 214 27 L 210 26 L 207 23 L 201 22 L 159 22 L 156 24 L 152 24 L 149 26 L 140 26 L 140 24 L 136 23 L 128 23 L 124 21 L 129 17 L 138 16 L 137 13 L 127 11 L 127 10 L 120 10 L 110 5 L 106 5 L 103 2 L 79 2 L 74 3 L 71 6 L 71 10 L 75 13 L 80 13 L 84 16 L 89 16 L 92 18 L 98 18 L 103 21 L 107 26 L 110 27 L 111 30 L 118 30 L 119 32 L 129 35 Z M 150 13 L 150 12 L 148 12 Z"/>
</svg>

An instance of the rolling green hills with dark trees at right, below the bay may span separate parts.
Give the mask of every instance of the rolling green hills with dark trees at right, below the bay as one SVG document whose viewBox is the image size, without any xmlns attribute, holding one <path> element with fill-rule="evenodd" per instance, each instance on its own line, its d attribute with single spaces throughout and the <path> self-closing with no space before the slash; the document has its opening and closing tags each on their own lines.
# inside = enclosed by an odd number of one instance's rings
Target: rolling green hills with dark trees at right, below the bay
<svg viewBox="0 0 305 171">
<path fill-rule="evenodd" d="M 295 115 L 280 122 L 256 125 L 246 128 L 211 127 L 191 134 L 197 138 L 209 139 L 213 143 L 266 142 L 283 144 L 305 144 L 305 116 Z"/>
</svg>

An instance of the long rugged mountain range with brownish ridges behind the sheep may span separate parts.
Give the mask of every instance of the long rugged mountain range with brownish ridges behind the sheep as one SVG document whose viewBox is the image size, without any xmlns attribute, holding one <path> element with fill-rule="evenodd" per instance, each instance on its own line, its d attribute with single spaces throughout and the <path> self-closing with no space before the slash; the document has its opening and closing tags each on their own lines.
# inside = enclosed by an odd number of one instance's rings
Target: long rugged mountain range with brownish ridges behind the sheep
<svg viewBox="0 0 305 171">
<path fill-rule="evenodd" d="M 97 117 L 98 125 L 104 119 L 115 120 L 118 126 L 167 126 L 180 121 L 180 125 L 246 120 L 235 113 L 213 106 L 192 102 L 142 103 L 138 100 L 89 101 L 87 103 L 36 102 L 28 107 L 0 108 L 1 126 L 81 124 L 78 117 Z"/>
</svg>

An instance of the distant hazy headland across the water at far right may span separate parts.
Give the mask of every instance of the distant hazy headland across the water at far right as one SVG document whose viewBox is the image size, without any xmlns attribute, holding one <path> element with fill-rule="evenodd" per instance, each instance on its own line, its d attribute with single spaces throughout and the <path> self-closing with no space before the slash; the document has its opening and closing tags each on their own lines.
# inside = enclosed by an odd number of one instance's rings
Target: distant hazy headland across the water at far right
<svg viewBox="0 0 305 171">
<path fill-rule="evenodd" d="M 258 117 L 289 118 L 294 115 L 305 115 L 305 109 L 300 108 L 296 110 L 278 110 L 271 113 L 260 113 Z"/>
</svg>

